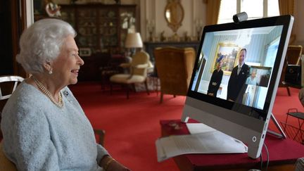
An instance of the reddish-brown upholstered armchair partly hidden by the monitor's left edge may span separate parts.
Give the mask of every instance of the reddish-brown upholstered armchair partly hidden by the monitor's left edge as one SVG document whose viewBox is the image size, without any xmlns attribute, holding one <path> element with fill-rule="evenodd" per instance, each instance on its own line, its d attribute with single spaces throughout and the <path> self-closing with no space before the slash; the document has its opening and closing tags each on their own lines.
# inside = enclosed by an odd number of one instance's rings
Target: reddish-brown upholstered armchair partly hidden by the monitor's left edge
<svg viewBox="0 0 304 171">
<path fill-rule="evenodd" d="M 160 103 L 163 94 L 186 96 L 196 53 L 193 48 L 163 47 L 154 50 L 160 79 Z"/>
</svg>

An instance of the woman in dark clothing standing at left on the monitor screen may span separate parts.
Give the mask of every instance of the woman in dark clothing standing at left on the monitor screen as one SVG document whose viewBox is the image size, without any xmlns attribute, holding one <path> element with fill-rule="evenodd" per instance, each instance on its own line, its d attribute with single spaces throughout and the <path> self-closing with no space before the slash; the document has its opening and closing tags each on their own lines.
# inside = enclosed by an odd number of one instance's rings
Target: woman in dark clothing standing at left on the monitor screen
<svg viewBox="0 0 304 171">
<path fill-rule="evenodd" d="M 220 83 L 222 82 L 222 58 L 224 56 L 220 56 L 220 58 L 217 59 L 217 68 L 213 71 L 213 75 L 211 75 L 211 79 L 209 82 L 209 87 L 207 94 L 209 96 L 215 96 L 217 95 L 217 90 L 220 88 Z"/>
</svg>

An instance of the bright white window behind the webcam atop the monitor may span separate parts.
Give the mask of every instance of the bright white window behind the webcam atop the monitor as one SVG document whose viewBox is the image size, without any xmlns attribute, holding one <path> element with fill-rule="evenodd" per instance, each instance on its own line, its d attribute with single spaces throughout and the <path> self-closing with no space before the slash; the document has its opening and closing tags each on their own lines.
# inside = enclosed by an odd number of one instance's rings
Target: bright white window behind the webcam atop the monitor
<svg viewBox="0 0 304 171">
<path fill-rule="evenodd" d="M 248 20 L 279 15 L 278 0 L 222 0 L 217 23 L 231 23 L 232 16 L 245 11 Z"/>
</svg>

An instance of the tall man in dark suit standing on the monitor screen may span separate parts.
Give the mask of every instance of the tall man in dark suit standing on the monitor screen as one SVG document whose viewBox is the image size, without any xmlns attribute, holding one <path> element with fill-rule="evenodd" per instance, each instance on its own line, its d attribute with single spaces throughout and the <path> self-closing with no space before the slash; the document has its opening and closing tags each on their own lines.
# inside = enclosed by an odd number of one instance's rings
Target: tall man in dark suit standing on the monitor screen
<svg viewBox="0 0 304 171">
<path fill-rule="evenodd" d="M 227 100 L 242 103 L 243 94 L 246 91 L 246 79 L 249 75 L 249 66 L 244 63 L 247 50 L 241 49 L 239 53 L 239 64 L 233 68 L 227 89 Z"/>
</svg>

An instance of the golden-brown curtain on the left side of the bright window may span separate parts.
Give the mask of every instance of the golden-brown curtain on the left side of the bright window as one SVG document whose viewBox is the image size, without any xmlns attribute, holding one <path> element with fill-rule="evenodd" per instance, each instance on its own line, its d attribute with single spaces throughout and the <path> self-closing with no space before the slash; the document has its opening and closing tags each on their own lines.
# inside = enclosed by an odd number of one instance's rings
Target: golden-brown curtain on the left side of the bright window
<svg viewBox="0 0 304 171">
<path fill-rule="evenodd" d="M 215 25 L 217 24 L 218 15 L 220 12 L 220 2 L 221 0 L 205 0 L 207 4 L 207 25 Z"/>
</svg>

